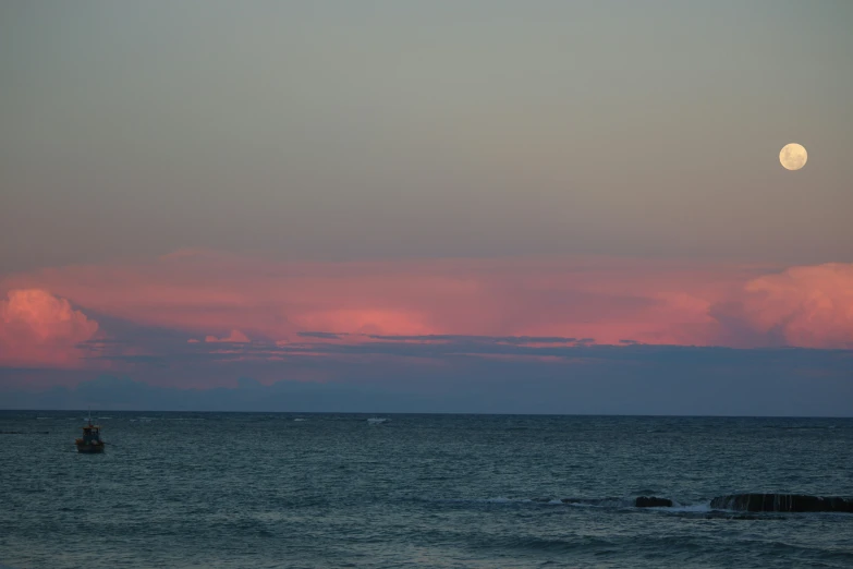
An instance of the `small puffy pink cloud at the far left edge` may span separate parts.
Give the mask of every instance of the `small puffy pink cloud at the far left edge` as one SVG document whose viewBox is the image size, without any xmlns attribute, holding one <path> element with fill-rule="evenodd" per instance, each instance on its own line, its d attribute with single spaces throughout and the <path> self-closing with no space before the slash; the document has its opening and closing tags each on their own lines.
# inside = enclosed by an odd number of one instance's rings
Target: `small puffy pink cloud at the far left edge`
<svg viewBox="0 0 853 569">
<path fill-rule="evenodd" d="M 65 299 L 41 289 L 11 290 L 0 301 L 0 364 L 74 367 L 83 355 L 77 344 L 97 331 L 98 323 Z"/>
</svg>

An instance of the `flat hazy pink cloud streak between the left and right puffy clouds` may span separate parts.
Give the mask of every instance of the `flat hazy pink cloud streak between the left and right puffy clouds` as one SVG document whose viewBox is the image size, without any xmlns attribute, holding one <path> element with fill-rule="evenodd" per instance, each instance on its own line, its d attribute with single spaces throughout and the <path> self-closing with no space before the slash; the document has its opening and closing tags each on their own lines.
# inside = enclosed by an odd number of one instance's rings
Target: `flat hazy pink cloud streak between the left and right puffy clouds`
<svg viewBox="0 0 853 569">
<path fill-rule="evenodd" d="M 704 289 L 731 279 L 727 273 L 619 259 L 279 264 L 187 253 L 145 265 L 45 270 L 10 283 L 49 284 L 98 312 L 205 335 L 228 327 L 272 340 L 325 330 L 618 342 L 677 341 L 671 322 L 708 323 Z"/>
</svg>

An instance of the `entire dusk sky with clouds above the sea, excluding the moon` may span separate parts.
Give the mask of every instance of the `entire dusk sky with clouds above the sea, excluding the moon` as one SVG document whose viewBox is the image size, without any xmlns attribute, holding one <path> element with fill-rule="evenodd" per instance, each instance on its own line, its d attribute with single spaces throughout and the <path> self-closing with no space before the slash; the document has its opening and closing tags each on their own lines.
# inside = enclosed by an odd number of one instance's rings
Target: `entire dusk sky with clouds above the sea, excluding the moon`
<svg viewBox="0 0 853 569">
<path fill-rule="evenodd" d="M 8 0 L 0 407 L 853 415 L 851 26 Z"/>
</svg>

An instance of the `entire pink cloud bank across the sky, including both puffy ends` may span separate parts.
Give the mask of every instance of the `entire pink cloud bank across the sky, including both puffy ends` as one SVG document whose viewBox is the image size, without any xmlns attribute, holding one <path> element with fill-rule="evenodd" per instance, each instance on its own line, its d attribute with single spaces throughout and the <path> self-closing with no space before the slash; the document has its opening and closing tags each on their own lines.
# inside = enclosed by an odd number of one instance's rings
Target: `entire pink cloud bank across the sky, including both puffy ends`
<svg viewBox="0 0 853 569">
<path fill-rule="evenodd" d="M 429 350 L 400 352 L 404 344 L 527 359 L 588 344 L 853 349 L 853 264 L 287 263 L 191 250 L 13 275 L 3 291 L 7 366 L 158 362 L 192 375 L 203 361 L 370 354 L 443 365 Z"/>
</svg>

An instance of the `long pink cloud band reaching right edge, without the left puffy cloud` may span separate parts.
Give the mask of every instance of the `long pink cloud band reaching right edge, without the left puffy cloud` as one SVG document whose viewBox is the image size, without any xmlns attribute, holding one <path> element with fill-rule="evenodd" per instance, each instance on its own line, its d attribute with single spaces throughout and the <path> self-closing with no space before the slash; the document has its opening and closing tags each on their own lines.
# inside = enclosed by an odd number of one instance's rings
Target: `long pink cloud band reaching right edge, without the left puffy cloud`
<svg viewBox="0 0 853 569">
<path fill-rule="evenodd" d="M 185 251 L 17 275 L 0 290 L 50 290 L 84 310 L 206 342 L 252 338 L 304 344 L 306 353 L 318 342 L 370 341 L 367 335 L 843 348 L 853 334 L 851 271 L 848 264 L 784 270 L 620 258 L 281 263 Z M 75 314 L 94 335 L 97 324 Z M 223 329 L 232 331 L 221 337 Z"/>
</svg>

